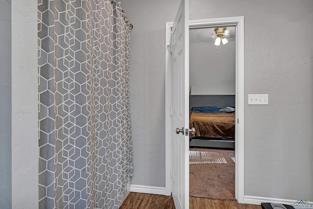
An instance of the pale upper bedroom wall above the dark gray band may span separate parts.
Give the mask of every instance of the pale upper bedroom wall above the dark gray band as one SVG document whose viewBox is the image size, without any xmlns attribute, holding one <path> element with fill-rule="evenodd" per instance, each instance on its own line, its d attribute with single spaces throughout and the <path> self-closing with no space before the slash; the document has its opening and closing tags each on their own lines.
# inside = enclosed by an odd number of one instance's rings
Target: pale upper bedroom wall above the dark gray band
<svg viewBox="0 0 313 209">
<path fill-rule="evenodd" d="M 204 94 L 216 94 L 214 92 L 235 94 L 236 43 L 234 37 L 232 39 L 229 38 L 229 42 L 226 45 L 222 43 L 221 45 L 221 50 L 216 50 L 214 40 L 211 37 L 207 41 L 190 42 L 189 85 L 191 87 L 194 86 L 191 90 L 196 89 L 196 86 L 204 86 L 200 88 L 202 90 L 207 89 L 208 93 Z M 216 91 L 209 91 L 213 89 Z"/>
</svg>

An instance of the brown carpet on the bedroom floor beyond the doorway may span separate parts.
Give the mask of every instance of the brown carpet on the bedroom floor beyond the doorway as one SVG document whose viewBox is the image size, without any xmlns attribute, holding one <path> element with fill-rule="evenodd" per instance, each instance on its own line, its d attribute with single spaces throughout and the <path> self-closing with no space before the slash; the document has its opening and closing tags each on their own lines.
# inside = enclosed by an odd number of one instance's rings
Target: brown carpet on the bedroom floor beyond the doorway
<svg viewBox="0 0 313 209">
<path fill-rule="evenodd" d="M 189 195 L 235 199 L 235 151 L 192 148 L 189 151 Z"/>
</svg>

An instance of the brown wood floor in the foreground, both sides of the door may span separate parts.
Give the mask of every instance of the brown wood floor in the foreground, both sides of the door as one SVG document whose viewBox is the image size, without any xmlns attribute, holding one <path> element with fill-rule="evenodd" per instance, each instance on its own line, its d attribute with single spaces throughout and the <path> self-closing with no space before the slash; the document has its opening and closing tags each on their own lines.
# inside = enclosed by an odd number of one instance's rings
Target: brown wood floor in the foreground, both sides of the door
<svg viewBox="0 0 313 209">
<path fill-rule="evenodd" d="M 190 209 L 262 209 L 261 206 L 239 204 L 234 201 L 189 198 Z M 131 192 L 120 209 L 175 209 L 172 196 Z"/>
</svg>

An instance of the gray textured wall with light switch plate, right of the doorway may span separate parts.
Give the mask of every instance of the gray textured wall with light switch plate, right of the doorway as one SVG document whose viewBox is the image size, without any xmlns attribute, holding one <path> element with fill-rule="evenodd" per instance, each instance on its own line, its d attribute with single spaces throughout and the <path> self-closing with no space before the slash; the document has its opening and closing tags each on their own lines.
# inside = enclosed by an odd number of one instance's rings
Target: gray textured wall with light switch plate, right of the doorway
<svg viewBox="0 0 313 209">
<path fill-rule="evenodd" d="M 312 201 L 313 40 L 298 31 L 313 32 L 313 1 L 191 1 L 191 20 L 227 16 L 245 16 L 245 195 Z"/>
</svg>

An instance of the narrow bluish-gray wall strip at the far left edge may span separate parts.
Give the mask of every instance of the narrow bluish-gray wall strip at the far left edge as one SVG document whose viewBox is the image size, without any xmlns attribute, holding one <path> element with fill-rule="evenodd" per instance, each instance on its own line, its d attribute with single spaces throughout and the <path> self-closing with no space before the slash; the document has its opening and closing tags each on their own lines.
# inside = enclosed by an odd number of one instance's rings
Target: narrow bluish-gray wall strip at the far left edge
<svg viewBox="0 0 313 209">
<path fill-rule="evenodd" d="M 0 208 L 11 196 L 11 0 L 0 0 Z"/>
</svg>

